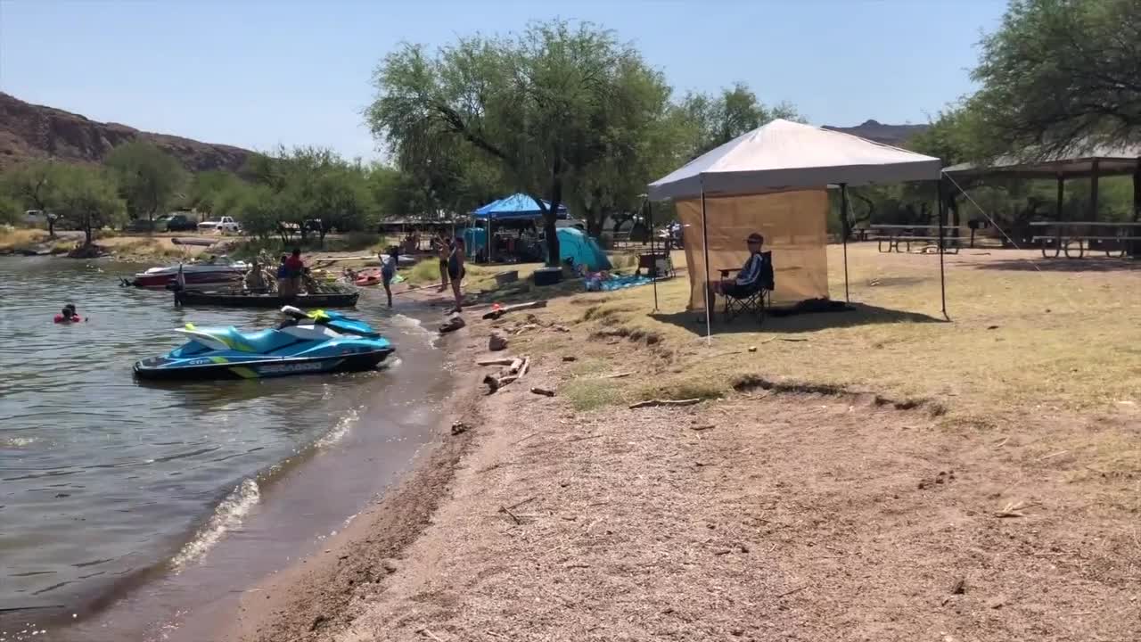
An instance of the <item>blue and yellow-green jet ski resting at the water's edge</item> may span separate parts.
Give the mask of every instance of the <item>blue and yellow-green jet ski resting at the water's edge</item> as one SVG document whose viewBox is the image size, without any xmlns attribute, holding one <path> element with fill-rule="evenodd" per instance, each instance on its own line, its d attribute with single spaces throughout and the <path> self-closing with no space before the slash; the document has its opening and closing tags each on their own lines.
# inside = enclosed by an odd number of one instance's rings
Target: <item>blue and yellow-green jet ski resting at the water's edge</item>
<svg viewBox="0 0 1141 642">
<path fill-rule="evenodd" d="M 135 363 L 140 379 L 253 379 L 310 372 L 349 372 L 375 368 L 393 344 L 367 323 L 333 311 L 306 313 L 282 307 L 276 329 L 240 332 L 234 327 L 176 332 L 189 342 L 165 356 Z"/>
</svg>

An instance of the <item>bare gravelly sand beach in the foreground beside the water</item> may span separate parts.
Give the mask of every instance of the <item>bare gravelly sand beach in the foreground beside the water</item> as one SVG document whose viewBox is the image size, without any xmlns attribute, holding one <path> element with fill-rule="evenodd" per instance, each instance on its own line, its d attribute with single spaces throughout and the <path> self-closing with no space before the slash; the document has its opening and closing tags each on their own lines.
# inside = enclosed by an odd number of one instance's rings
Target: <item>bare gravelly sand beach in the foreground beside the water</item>
<svg viewBox="0 0 1141 642">
<path fill-rule="evenodd" d="M 583 307 L 493 322 L 507 352 L 542 353 L 527 376 L 485 395 L 494 369 L 462 372 L 415 472 L 246 592 L 218 639 L 1141 635 L 1134 474 L 1055 448 L 1132 444 L 1135 414 L 979 422 L 763 380 L 680 408 L 582 410 L 561 391 L 646 383 L 683 352 L 568 316 Z M 467 316 L 444 339 L 461 364 L 493 329 Z M 469 430 L 453 435 L 453 420 Z"/>
</svg>

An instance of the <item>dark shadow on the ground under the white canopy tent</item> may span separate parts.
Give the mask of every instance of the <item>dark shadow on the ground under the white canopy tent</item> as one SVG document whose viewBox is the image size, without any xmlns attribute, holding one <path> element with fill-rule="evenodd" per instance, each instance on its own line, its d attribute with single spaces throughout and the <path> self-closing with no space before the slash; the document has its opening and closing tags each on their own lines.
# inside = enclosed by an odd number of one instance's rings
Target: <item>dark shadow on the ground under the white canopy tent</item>
<svg viewBox="0 0 1141 642">
<path fill-rule="evenodd" d="M 763 323 L 758 323 L 754 318 L 738 316 L 733 321 L 725 321 L 720 314 L 713 315 L 713 334 L 741 334 L 741 332 L 815 332 L 828 328 L 852 328 L 858 326 L 874 326 L 880 323 L 947 323 L 942 319 L 937 319 L 917 312 L 905 312 L 890 310 L 863 303 L 851 303 L 839 310 L 830 312 L 810 312 L 802 314 L 778 315 L 782 308 L 777 306 L 764 316 Z M 705 334 L 705 314 L 703 312 L 677 312 L 671 314 L 652 313 L 650 316 L 663 323 L 672 323 L 679 328 L 685 328 L 697 335 Z"/>
</svg>

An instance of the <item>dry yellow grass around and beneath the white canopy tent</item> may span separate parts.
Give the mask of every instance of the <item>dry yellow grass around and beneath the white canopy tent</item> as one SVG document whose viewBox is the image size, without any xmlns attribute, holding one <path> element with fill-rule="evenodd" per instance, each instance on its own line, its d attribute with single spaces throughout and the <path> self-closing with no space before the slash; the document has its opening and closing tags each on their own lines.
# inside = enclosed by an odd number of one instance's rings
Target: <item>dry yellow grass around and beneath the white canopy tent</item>
<svg viewBox="0 0 1141 642">
<path fill-rule="evenodd" d="M 830 248 L 833 297 L 843 296 L 839 249 Z M 650 355 L 641 367 L 653 377 L 613 382 L 621 400 L 731 394 L 741 377 L 756 376 L 937 400 L 960 415 L 1049 415 L 1141 401 L 1141 300 L 1134 296 L 1141 270 L 1120 260 L 1034 256 L 948 256 L 950 323 L 941 322 L 938 257 L 881 255 L 873 244 L 849 248 L 856 312 L 769 318 L 760 328 L 748 320 L 715 323 L 709 345 L 704 316 L 685 312 L 685 275 L 659 284 L 656 314 L 653 290 L 644 287 L 555 298 L 543 316 L 583 326 L 594 340 L 582 348 L 599 358 L 631 343 Z M 681 252 L 675 263 L 683 263 Z M 646 336 L 656 345 L 639 340 Z M 567 346 L 544 337 L 534 350 Z"/>
</svg>

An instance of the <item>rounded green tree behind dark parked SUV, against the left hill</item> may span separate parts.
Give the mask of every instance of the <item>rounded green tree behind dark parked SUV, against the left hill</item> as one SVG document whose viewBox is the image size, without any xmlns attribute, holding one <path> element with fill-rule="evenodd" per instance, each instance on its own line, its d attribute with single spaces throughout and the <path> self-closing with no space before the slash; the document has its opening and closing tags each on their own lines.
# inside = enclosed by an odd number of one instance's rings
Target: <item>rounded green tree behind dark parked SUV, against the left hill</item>
<svg viewBox="0 0 1141 642">
<path fill-rule="evenodd" d="M 131 218 L 154 217 L 162 212 L 186 184 L 186 172 L 173 157 L 146 141 L 123 143 L 104 161 L 115 175 L 119 193 Z"/>
</svg>

